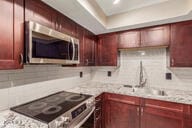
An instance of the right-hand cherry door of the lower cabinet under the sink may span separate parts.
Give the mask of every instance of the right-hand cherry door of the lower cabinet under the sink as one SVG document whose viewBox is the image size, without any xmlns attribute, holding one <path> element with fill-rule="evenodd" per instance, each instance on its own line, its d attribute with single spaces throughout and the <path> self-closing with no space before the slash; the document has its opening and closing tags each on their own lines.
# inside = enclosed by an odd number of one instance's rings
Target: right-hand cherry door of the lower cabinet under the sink
<svg viewBox="0 0 192 128">
<path fill-rule="evenodd" d="M 185 128 L 183 105 L 146 100 L 141 108 L 141 128 Z"/>
</svg>

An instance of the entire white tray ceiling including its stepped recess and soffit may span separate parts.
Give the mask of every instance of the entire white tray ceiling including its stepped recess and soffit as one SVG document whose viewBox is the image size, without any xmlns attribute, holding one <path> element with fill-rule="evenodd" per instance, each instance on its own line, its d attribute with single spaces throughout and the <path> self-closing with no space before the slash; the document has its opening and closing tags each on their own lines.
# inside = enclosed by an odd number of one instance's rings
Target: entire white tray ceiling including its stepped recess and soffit
<svg viewBox="0 0 192 128">
<path fill-rule="evenodd" d="M 192 0 L 42 0 L 95 34 L 192 19 Z"/>
</svg>

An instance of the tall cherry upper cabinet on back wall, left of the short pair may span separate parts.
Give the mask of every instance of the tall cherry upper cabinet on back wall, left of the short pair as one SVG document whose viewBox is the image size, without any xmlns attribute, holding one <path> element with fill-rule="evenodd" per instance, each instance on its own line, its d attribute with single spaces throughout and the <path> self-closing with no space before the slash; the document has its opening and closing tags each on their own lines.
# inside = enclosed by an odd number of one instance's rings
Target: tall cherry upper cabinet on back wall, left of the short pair
<svg viewBox="0 0 192 128">
<path fill-rule="evenodd" d="M 98 64 L 99 66 L 117 66 L 118 35 L 116 33 L 99 35 Z"/>
</svg>

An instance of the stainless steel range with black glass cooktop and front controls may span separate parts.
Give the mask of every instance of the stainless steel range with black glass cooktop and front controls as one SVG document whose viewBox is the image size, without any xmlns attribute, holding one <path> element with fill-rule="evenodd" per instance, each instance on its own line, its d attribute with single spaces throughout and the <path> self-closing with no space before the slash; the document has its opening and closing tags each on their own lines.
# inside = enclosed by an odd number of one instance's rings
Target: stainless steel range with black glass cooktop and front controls
<svg viewBox="0 0 192 128">
<path fill-rule="evenodd" d="M 41 121 L 49 128 L 93 128 L 95 99 L 91 95 L 63 91 L 11 110 Z"/>
</svg>

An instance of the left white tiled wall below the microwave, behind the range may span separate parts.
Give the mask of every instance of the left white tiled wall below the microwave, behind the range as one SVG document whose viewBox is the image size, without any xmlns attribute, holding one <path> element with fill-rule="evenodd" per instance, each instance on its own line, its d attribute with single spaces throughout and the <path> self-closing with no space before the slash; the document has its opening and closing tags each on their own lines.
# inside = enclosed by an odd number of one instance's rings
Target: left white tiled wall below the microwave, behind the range
<svg viewBox="0 0 192 128">
<path fill-rule="evenodd" d="M 83 72 L 83 78 L 79 72 Z M 26 65 L 0 71 L 0 111 L 89 82 L 90 68 Z"/>
</svg>

